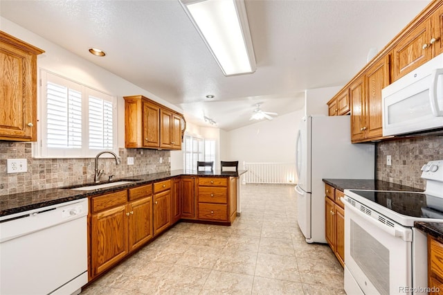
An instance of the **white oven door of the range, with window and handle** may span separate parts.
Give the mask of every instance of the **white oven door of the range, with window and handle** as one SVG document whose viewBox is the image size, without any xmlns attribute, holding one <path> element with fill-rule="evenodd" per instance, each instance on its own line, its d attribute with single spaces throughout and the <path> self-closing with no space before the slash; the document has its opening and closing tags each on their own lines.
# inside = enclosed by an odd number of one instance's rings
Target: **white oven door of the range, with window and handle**
<svg viewBox="0 0 443 295">
<path fill-rule="evenodd" d="M 387 220 L 354 199 L 345 197 L 343 202 L 347 294 L 356 289 L 371 295 L 411 294 L 412 229 Z"/>
</svg>

